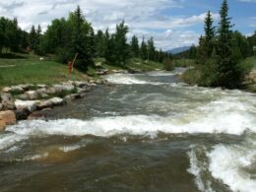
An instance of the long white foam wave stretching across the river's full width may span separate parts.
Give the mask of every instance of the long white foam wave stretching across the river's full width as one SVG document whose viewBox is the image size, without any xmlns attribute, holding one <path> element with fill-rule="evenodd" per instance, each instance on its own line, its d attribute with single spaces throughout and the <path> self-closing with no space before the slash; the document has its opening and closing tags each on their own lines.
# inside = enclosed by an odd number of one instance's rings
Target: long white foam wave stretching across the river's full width
<svg viewBox="0 0 256 192">
<path fill-rule="evenodd" d="M 204 115 L 204 116 L 203 116 Z M 246 130 L 256 132 L 255 116 L 245 111 L 216 111 L 210 114 L 181 116 L 129 115 L 78 119 L 23 121 L 7 128 L 17 135 L 95 135 L 109 137 L 118 134 L 153 135 L 163 133 L 225 133 L 241 135 Z"/>
</svg>

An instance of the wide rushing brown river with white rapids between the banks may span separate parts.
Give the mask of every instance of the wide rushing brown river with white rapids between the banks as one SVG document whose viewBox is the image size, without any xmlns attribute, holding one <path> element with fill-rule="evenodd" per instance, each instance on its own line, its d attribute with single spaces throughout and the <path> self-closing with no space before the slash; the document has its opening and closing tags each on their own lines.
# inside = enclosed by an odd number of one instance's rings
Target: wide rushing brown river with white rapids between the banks
<svg viewBox="0 0 256 192">
<path fill-rule="evenodd" d="M 0 191 L 256 189 L 256 95 L 190 87 L 173 73 L 113 85 L 0 133 Z"/>
</svg>

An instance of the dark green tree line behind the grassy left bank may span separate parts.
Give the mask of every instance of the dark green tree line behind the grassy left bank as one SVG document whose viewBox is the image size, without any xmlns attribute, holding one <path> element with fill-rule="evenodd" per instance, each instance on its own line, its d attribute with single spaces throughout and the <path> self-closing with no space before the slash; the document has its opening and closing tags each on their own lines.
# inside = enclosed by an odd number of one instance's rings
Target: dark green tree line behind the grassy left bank
<svg viewBox="0 0 256 192">
<path fill-rule="evenodd" d="M 8 23 L 8 27 L 2 28 L 5 23 Z M 44 33 L 40 26 L 36 29 L 32 26 L 31 32 L 22 31 L 16 19 L 10 21 L 1 18 L 0 27 L 0 39 L 6 39 L 0 42 L 1 50 L 4 47 L 12 51 L 31 49 L 38 55 L 53 54 L 61 63 L 67 63 L 79 53 L 75 67 L 81 70 L 87 70 L 95 57 L 104 57 L 112 65 L 125 65 L 133 57 L 157 62 L 170 57 L 157 50 L 153 37 L 148 40 L 143 37 L 140 43 L 134 35 L 128 42 L 129 28 L 124 21 L 116 25 L 115 32 L 110 33 L 108 29 L 95 32 L 79 6 L 67 19 L 53 20 Z M 6 38 L 2 38 L 2 35 Z"/>
</svg>

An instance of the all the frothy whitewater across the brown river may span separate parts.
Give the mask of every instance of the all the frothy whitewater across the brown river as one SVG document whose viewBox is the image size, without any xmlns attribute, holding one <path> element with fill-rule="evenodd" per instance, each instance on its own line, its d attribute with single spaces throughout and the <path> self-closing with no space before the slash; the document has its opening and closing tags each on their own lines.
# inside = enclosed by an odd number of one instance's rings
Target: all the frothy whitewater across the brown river
<svg viewBox="0 0 256 192">
<path fill-rule="evenodd" d="M 0 135 L 0 153 L 19 146 L 18 144 L 34 137 L 47 136 L 87 136 L 108 138 L 116 135 L 141 135 L 152 139 L 164 134 L 211 134 L 235 135 L 249 134 L 243 144 L 218 144 L 211 148 L 191 146 L 187 156 L 190 161 L 188 172 L 195 176 L 195 182 L 200 191 L 215 191 L 211 179 L 203 178 L 205 172 L 227 185 L 232 191 L 250 192 L 256 189 L 255 174 L 250 173 L 256 164 L 256 103 L 255 95 L 241 91 L 223 91 L 221 89 L 206 89 L 188 87 L 183 83 L 162 82 L 150 77 L 172 77 L 177 73 L 150 73 L 146 78 L 140 75 L 114 74 L 106 79 L 112 83 L 126 86 L 161 86 L 162 89 L 177 90 L 188 97 L 203 97 L 195 102 L 182 98 L 179 102 L 170 102 L 168 96 L 148 94 L 136 98 L 142 106 L 152 106 L 164 109 L 160 114 L 129 114 L 94 117 L 83 119 L 56 119 L 21 121 L 9 126 L 6 133 Z M 148 79 L 147 79 L 148 78 Z M 130 95 L 127 95 L 130 96 Z M 128 102 L 127 96 L 118 98 Z M 136 93 L 131 95 L 137 96 Z M 162 99 L 160 99 L 162 98 Z M 178 95 L 176 97 L 178 100 Z M 173 111 L 178 111 L 172 113 Z M 112 111 L 114 114 L 114 111 Z M 107 114 L 107 113 L 105 113 Z M 83 144 L 84 145 L 84 144 Z M 83 145 L 64 146 L 60 150 L 68 153 L 82 148 Z M 204 154 L 204 158 L 199 158 Z M 47 154 L 40 155 L 46 157 Z M 40 156 L 32 157 L 34 160 Z M 31 159 L 32 160 L 32 159 Z"/>
</svg>

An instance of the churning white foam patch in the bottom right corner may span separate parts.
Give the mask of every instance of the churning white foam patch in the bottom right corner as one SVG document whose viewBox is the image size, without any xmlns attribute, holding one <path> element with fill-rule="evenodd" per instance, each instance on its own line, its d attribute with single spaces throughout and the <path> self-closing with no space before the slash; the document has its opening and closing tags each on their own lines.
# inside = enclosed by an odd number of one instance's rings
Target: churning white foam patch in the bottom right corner
<svg viewBox="0 0 256 192">
<path fill-rule="evenodd" d="M 212 175 L 228 185 L 235 192 L 254 192 L 255 175 L 248 170 L 255 170 L 256 146 L 218 145 L 208 153 Z M 254 173 L 255 174 L 255 173 Z M 253 178 L 254 176 L 254 178 Z"/>
</svg>

